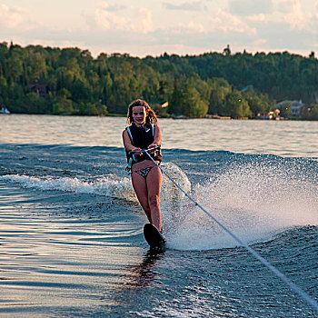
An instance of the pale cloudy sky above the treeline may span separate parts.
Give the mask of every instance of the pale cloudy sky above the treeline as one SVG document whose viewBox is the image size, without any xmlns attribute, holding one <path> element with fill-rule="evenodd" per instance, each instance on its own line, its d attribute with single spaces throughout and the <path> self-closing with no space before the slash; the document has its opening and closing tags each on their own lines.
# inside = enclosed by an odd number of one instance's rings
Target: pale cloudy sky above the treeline
<svg viewBox="0 0 318 318">
<path fill-rule="evenodd" d="M 318 0 L 0 0 L 0 42 L 133 56 L 318 55 Z"/>
</svg>

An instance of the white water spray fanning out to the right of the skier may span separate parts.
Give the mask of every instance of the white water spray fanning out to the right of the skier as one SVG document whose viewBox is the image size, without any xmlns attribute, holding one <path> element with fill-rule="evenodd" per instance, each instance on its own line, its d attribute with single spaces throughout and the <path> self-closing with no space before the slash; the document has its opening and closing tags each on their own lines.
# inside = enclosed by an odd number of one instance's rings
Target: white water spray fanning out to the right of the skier
<svg viewBox="0 0 318 318">
<path fill-rule="evenodd" d="M 178 171 L 179 169 L 179 171 Z M 175 165 L 174 181 L 245 243 L 265 242 L 287 228 L 318 224 L 317 185 L 305 170 L 264 163 L 232 164 L 204 184 L 191 185 Z M 166 171 L 168 173 L 168 170 Z M 168 173 L 169 174 L 169 173 Z M 215 222 L 169 180 L 162 199 L 169 247 L 206 250 L 237 246 Z"/>
</svg>

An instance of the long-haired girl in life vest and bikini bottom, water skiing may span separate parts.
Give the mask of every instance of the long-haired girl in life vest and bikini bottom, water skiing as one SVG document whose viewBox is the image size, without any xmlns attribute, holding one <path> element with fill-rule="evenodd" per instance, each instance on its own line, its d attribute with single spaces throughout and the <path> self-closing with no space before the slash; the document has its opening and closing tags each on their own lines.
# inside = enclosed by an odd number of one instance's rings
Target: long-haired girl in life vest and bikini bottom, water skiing
<svg viewBox="0 0 318 318">
<path fill-rule="evenodd" d="M 148 156 L 151 154 L 157 164 L 161 163 L 162 136 L 157 116 L 144 100 L 137 99 L 128 106 L 127 122 L 129 125 L 124 129 L 123 141 L 134 192 L 149 222 L 162 232 L 159 197 L 163 174 Z M 139 152 L 144 149 L 149 149 L 148 154 Z"/>
</svg>

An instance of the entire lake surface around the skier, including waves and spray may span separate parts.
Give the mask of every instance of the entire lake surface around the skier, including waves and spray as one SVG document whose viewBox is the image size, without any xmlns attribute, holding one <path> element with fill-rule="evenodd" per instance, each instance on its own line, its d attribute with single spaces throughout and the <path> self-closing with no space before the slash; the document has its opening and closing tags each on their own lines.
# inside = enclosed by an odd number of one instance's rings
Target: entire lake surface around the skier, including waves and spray
<svg viewBox="0 0 318 318">
<path fill-rule="evenodd" d="M 164 171 L 318 299 L 318 122 L 160 119 Z M 317 317 L 165 178 L 142 234 L 125 118 L 0 116 L 0 315 Z"/>
</svg>

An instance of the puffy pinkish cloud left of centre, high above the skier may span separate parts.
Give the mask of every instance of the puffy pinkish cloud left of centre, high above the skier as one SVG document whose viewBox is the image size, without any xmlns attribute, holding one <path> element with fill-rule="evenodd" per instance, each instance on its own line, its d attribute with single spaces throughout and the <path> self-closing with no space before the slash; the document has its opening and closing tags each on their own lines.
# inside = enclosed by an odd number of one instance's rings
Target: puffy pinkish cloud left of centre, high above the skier
<svg viewBox="0 0 318 318">
<path fill-rule="evenodd" d="M 147 8 L 138 8 L 130 11 L 130 16 L 115 14 L 109 11 L 110 6 L 107 3 L 99 5 L 94 13 L 96 25 L 104 30 L 121 30 L 124 32 L 140 32 L 147 34 L 154 30 L 153 13 Z M 137 16 L 135 18 L 134 16 Z"/>
</svg>

